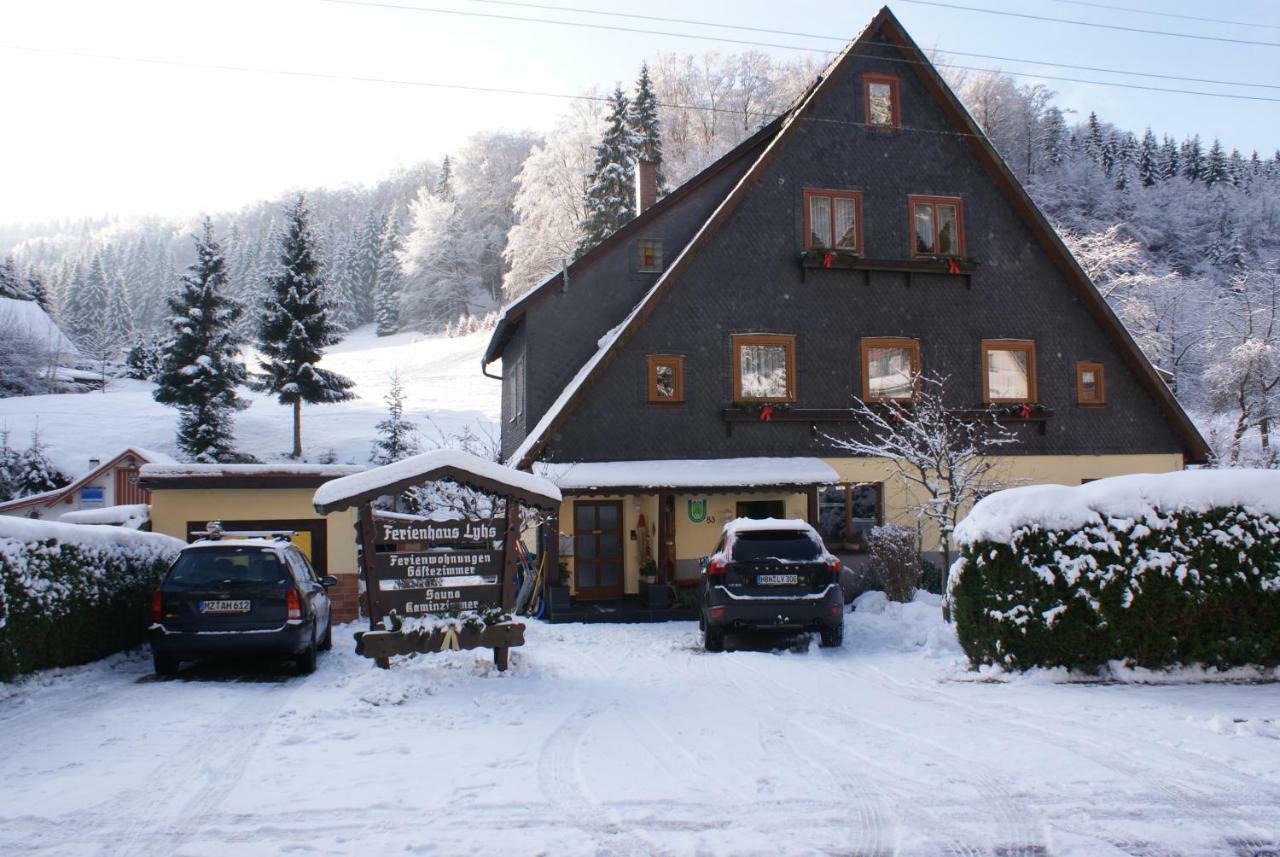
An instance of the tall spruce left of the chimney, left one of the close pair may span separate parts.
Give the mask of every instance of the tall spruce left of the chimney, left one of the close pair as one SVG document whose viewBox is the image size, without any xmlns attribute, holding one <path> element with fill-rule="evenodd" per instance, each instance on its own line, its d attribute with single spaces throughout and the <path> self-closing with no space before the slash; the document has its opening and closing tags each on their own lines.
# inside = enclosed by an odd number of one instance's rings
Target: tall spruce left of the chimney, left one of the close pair
<svg viewBox="0 0 1280 857">
<path fill-rule="evenodd" d="M 595 147 L 595 165 L 586 180 L 581 238 L 581 256 L 621 229 L 636 216 L 635 156 L 636 142 L 627 128 L 627 97 L 622 87 L 613 90 L 605 119 L 604 138 Z"/>
</svg>

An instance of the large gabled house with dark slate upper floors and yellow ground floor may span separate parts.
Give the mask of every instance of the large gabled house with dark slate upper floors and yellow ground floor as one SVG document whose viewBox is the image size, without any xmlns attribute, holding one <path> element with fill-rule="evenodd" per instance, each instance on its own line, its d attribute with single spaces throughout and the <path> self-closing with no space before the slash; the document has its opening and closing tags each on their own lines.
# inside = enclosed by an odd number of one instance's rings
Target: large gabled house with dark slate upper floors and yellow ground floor
<svg viewBox="0 0 1280 857">
<path fill-rule="evenodd" d="M 645 165 L 639 173 L 645 174 Z M 644 200 L 644 188 L 639 198 Z M 577 599 L 698 579 L 724 521 L 836 550 L 919 498 L 828 436 L 941 372 L 998 405 L 1006 478 L 1207 446 L 982 129 L 882 9 L 776 120 L 502 313 L 506 460 L 554 481 Z M 928 545 L 927 545 L 928 547 Z"/>
</svg>

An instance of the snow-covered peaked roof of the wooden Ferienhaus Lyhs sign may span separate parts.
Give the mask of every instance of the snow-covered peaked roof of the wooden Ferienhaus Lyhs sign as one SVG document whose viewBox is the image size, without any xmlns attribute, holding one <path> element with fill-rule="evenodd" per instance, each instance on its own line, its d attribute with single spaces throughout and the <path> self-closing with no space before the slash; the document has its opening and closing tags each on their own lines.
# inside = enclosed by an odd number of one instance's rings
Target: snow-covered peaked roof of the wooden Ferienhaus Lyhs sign
<svg viewBox="0 0 1280 857">
<path fill-rule="evenodd" d="M 449 480 L 544 509 L 561 503 L 559 489 L 552 482 L 461 449 L 436 449 L 326 482 L 316 490 L 312 503 L 316 512 L 328 514 L 433 480 Z"/>
</svg>

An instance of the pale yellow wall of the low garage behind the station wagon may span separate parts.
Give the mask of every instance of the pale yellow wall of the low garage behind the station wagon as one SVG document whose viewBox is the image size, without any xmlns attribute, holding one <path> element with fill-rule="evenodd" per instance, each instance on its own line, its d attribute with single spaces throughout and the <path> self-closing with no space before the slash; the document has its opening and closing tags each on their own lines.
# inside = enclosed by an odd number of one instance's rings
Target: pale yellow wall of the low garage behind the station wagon
<svg viewBox="0 0 1280 857">
<path fill-rule="evenodd" d="M 188 521 L 316 519 L 311 489 L 155 489 L 151 530 L 187 541 Z M 329 573 L 356 574 L 356 510 L 324 515 L 329 522 Z"/>
</svg>

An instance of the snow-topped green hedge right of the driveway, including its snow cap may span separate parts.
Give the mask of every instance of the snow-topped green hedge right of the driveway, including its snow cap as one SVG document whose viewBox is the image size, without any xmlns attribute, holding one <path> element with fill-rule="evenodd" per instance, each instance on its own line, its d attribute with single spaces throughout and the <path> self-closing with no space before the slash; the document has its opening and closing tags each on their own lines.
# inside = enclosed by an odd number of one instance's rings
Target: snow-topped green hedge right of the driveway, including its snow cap
<svg viewBox="0 0 1280 857">
<path fill-rule="evenodd" d="M 1011 489 L 956 540 L 950 596 L 974 665 L 1280 665 L 1280 472 Z"/>
</svg>

